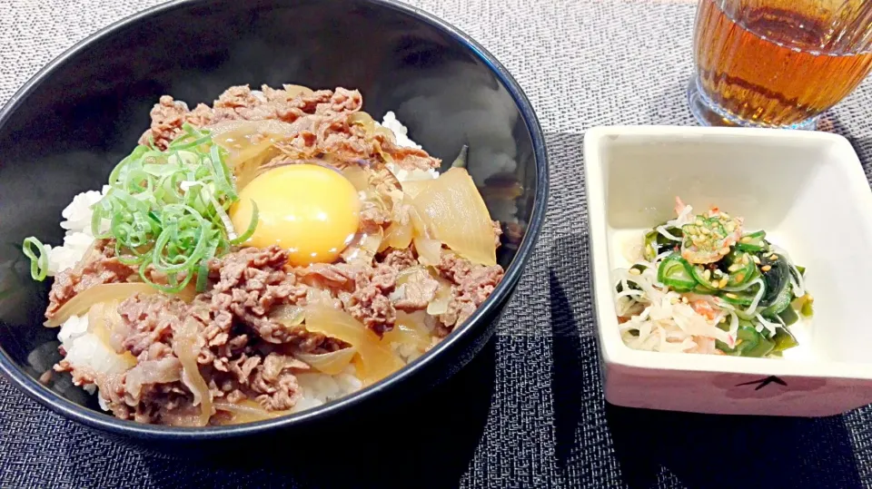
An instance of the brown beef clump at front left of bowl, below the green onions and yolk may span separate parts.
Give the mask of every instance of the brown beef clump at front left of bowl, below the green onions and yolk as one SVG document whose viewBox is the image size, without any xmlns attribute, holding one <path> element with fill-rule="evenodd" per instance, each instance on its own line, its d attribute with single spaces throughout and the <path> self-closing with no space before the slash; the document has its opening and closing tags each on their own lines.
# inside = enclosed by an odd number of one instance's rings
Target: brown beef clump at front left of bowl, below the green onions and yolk
<svg viewBox="0 0 872 489">
<path fill-rule="evenodd" d="M 193 394 L 173 354 L 173 331 L 190 319 L 197 325 L 200 374 L 213 398 L 252 398 L 268 410 L 292 408 L 302 395 L 295 373 L 309 367 L 271 351 L 273 344 L 318 353 L 345 345 L 268 318 L 275 305 L 306 295 L 307 286 L 285 273 L 286 261 L 282 249 L 242 249 L 210 264 L 212 288 L 191 304 L 163 294 L 125 300 L 118 308 L 122 344 L 139 363 L 124 376 L 102 382 L 102 395 L 115 416 L 145 422 L 190 418 Z"/>
</svg>

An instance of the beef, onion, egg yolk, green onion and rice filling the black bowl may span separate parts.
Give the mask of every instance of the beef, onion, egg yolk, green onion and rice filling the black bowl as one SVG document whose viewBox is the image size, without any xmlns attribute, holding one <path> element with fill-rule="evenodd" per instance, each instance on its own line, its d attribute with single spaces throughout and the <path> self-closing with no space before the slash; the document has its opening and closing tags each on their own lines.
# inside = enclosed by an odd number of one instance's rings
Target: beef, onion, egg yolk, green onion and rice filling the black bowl
<svg viewBox="0 0 872 489">
<path fill-rule="evenodd" d="M 337 88 L 163 96 L 101 191 L 64 210 L 54 277 L 78 386 L 114 416 L 251 422 L 319 406 L 419 357 L 503 275 L 500 225 L 463 169 Z M 46 376 L 52 372 L 46 372 Z"/>
</svg>

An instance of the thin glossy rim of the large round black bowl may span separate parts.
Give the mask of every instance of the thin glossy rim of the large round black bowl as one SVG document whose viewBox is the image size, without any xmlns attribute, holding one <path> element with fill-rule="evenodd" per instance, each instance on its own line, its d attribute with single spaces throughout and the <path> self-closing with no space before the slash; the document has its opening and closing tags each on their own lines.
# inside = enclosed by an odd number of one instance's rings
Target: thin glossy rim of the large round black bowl
<svg viewBox="0 0 872 489">
<path fill-rule="evenodd" d="M 0 127 L 5 125 L 5 122 L 7 122 L 18 107 L 22 103 L 25 103 L 25 101 L 48 76 L 54 73 L 54 71 L 62 68 L 64 64 L 71 61 L 76 55 L 89 49 L 89 47 L 96 41 L 114 35 L 128 26 L 136 24 L 146 18 L 164 15 L 177 8 L 206 4 L 208 2 L 209 0 L 173 0 L 165 4 L 155 5 L 133 15 L 124 17 L 113 24 L 109 24 L 100 29 L 94 34 L 87 36 L 82 41 L 79 41 L 64 51 L 64 53 L 59 54 L 49 64 L 46 64 L 17 92 L 15 92 L 12 97 L 10 97 L 2 110 L 0 110 Z M 118 419 L 94 409 L 75 404 L 39 384 L 34 378 L 26 375 L 19 367 L 15 366 L 2 346 L 0 346 L 0 373 L 3 373 L 13 385 L 23 391 L 27 396 L 35 399 L 39 404 L 48 407 L 50 410 L 54 411 L 54 413 L 102 431 L 118 435 L 131 435 L 137 438 L 151 440 L 196 441 L 204 439 L 233 438 L 244 435 L 262 434 L 273 429 L 288 428 L 293 425 L 305 425 L 317 420 L 323 420 L 335 416 L 345 409 L 352 408 L 371 397 L 381 396 L 394 386 L 401 384 L 407 378 L 415 376 L 419 371 L 428 367 L 442 352 L 455 347 L 455 345 L 458 345 L 462 340 L 470 337 L 473 329 L 482 328 L 484 326 L 483 323 L 486 320 L 486 316 L 499 311 L 500 304 L 509 300 L 511 291 L 520 280 L 523 270 L 526 268 L 527 262 L 534 251 L 536 240 L 539 237 L 540 230 L 545 221 L 549 193 L 549 171 L 545 137 L 539 119 L 536 117 L 535 112 L 533 112 L 532 104 L 523 93 L 520 84 L 511 76 L 509 71 L 500 64 L 492 54 L 490 54 L 488 50 L 474 41 L 468 34 L 463 33 L 457 27 L 441 20 L 435 15 L 431 15 L 412 5 L 402 4 L 396 0 L 362 0 L 362 2 L 374 6 L 380 6 L 382 8 L 388 8 L 403 15 L 409 15 L 417 21 L 435 27 L 437 30 L 441 31 L 442 34 L 447 34 L 454 41 L 462 44 L 466 49 L 470 50 L 475 57 L 490 68 L 490 72 L 493 73 L 493 75 L 510 93 L 512 100 L 519 109 L 521 119 L 527 127 L 527 131 L 530 132 L 536 170 L 537 189 L 533 199 L 527 233 L 524 235 L 523 240 L 521 240 L 515 258 L 510 263 L 508 269 L 506 269 L 503 279 L 490 294 L 490 297 L 485 300 L 481 307 L 475 310 L 472 316 L 461 326 L 461 328 L 452 331 L 451 334 L 443 339 L 436 347 L 431 348 L 430 351 L 415 359 L 406 367 L 401 368 L 397 372 L 391 374 L 391 376 L 382 379 L 380 382 L 373 384 L 372 386 L 366 386 L 349 396 L 343 396 L 340 399 L 336 399 L 322 406 L 306 409 L 300 413 L 244 425 L 190 428 L 165 425 L 145 425 L 134 421 Z M 494 318 L 494 320 L 496 320 L 496 318 Z"/>
</svg>

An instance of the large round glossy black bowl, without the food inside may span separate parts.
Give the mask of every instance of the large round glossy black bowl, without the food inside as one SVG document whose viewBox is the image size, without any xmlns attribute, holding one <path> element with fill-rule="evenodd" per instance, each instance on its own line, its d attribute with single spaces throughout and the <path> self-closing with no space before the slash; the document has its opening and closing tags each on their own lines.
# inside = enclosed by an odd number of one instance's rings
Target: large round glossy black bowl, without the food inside
<svg viewBox="0 0 872 489">
<path fill-rule="evenodd" d="M 68 378 L 40 384 L 59 357 L 57 330 L 41 326 L 48 286 L 30 279 L 22 240 L 62 240 L 61 210 L 76 193 L 101 187 L 148 127 L 161 94 L 211 103 L 244 83 L 357 88 L 364 110 L 376 118 L 395 111 L 412 139 L 446 164 L 468 144 L 468 168 L 481 187 L 520 183 L 520 198 L 491 208 L 518 224 L 500 252 L 505 279 L 461 328 L 409 367 L 295 416 L 201 429 L 138 425 L 101 412 Z M 0 370 L 63 416 L 153 440 L 251 435 L 395 402 L 450 377 L 493 334 L 530 258 L 547 191 L 545 144 L 530 102 L 481 45 L 431 15 L 375 0 L 161 5 L 75 45 L 0 112 Z M 504 216 L 507 209 L 514 216 Z"/>
</svg>

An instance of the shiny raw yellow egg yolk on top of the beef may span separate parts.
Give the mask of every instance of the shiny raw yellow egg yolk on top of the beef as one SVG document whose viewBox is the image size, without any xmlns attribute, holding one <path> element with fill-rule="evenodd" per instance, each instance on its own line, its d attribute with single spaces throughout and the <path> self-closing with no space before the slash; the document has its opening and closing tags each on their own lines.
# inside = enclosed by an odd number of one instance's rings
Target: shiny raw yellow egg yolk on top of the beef
<svg viewBox="0 0 872 489">
<path fill-rule="evenodd" d="M 318 165 L 282 166 L 249 182 L 230 209 L 239 233 L 249 228 L 252 202 L 259 216 L 245 244 L 279 245 L 289 251 L 295 266 L 335 261 L 360 225 L 361 200 L 352 182 Z"/>
</svg>

